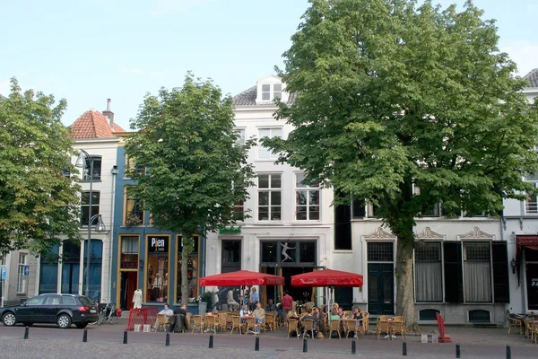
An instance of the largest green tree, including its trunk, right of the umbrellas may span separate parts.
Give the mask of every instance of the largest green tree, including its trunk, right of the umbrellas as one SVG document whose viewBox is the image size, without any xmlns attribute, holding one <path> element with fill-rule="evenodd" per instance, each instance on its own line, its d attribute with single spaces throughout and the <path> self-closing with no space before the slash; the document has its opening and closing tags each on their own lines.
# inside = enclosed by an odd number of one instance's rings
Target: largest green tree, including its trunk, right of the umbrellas
<svg viewBox="0 0 538 359">
<path fill-rule="evenodd" d="M 396 311 L 416 327 L 415 219 L 439 202 L 444 215 L 499 215 L 503 197 L 533 191 L 522 179 L 537 169 L 536 113 L 494 22 L 471 2 L 461 12 L 409 0 L 310 3 L 283 54 L 283 81 L 298 96 L 277 117 L 295 130 L 264 145 L 325 180 L 336 203 L 378 207 L 398 239 Z"/>
</svg>

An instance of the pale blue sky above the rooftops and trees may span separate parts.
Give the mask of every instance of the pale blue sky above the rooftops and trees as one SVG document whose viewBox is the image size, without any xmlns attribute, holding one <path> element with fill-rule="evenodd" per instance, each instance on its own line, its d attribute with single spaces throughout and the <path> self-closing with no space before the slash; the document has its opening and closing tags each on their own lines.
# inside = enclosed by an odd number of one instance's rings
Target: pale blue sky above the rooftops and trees
<svg viewBox="0 0 538 359">
<path fill-rule="evenodd" d="M 464 0 L 433 1 L 446 7 Z M 538 67 L 538 0 L 474 0 L 519 74 Z M 64 123 L 112 99 L 128 129 L 146 92 L 187 71 L 235 95 L 282 66 L 307 0 L 0 0 L 0 93 L 17 77 L 65 98 Z"/>
</svg>

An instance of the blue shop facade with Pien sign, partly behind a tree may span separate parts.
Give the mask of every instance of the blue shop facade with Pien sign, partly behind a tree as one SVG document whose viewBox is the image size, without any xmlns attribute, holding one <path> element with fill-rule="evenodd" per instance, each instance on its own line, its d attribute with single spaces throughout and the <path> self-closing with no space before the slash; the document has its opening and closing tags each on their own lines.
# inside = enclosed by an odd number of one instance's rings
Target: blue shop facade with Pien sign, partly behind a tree
<svg viewBox="0 0 538 359">
<path fill-rule="evenodd" d="M 123 146 L 117 149 L 117 183 L 114 208 L 111 298 L 123 310 L 133 308 L 133 294 L 143 291 L 143 305 L 161 306 L 181 302 L 181 233 L 152 225 L 151 214 L 138 198 L 128 197 L 126 188 L 135 182 L 126 178 L 129 166 Z M 137 167 L 137 171 L 145 168 Z M 200 296 L 199 278 L 204 276 L 205 237 L 195 237 L 195 250 L 188 259 L 189 300 Z"/>
</svg>

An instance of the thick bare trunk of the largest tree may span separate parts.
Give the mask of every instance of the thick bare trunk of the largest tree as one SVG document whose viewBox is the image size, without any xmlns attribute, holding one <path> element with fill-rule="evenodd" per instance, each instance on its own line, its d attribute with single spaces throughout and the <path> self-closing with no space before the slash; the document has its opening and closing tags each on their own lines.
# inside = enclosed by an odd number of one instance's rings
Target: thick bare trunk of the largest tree
<svg viewBox="0 0 538 359">
<path fill-rule="evenodd" d="M 414 310 L 414 282 L 412 279 L 412 252 L 414 237 L 398 236 L 396 246 L 396 314 L 404 316 L 409 331 L 418 331 Z"/>
</svg>

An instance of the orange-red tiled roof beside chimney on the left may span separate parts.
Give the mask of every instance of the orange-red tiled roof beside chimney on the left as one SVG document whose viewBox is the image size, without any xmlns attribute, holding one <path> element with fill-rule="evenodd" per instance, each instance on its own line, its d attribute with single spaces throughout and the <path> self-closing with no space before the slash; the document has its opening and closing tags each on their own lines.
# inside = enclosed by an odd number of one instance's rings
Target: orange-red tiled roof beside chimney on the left
<svg viewBox="0 0 538 359">
<path fill-rule="evenodd" d="M 71 138 L 106 138 L 115 137 L 115 132 L 125 132 L 117 124 L 114 124 L 114 130 L 112 130 L 108 125 L 107 118 L 95 109 L 84 112 L 69 129 Z"/>
</svg>

